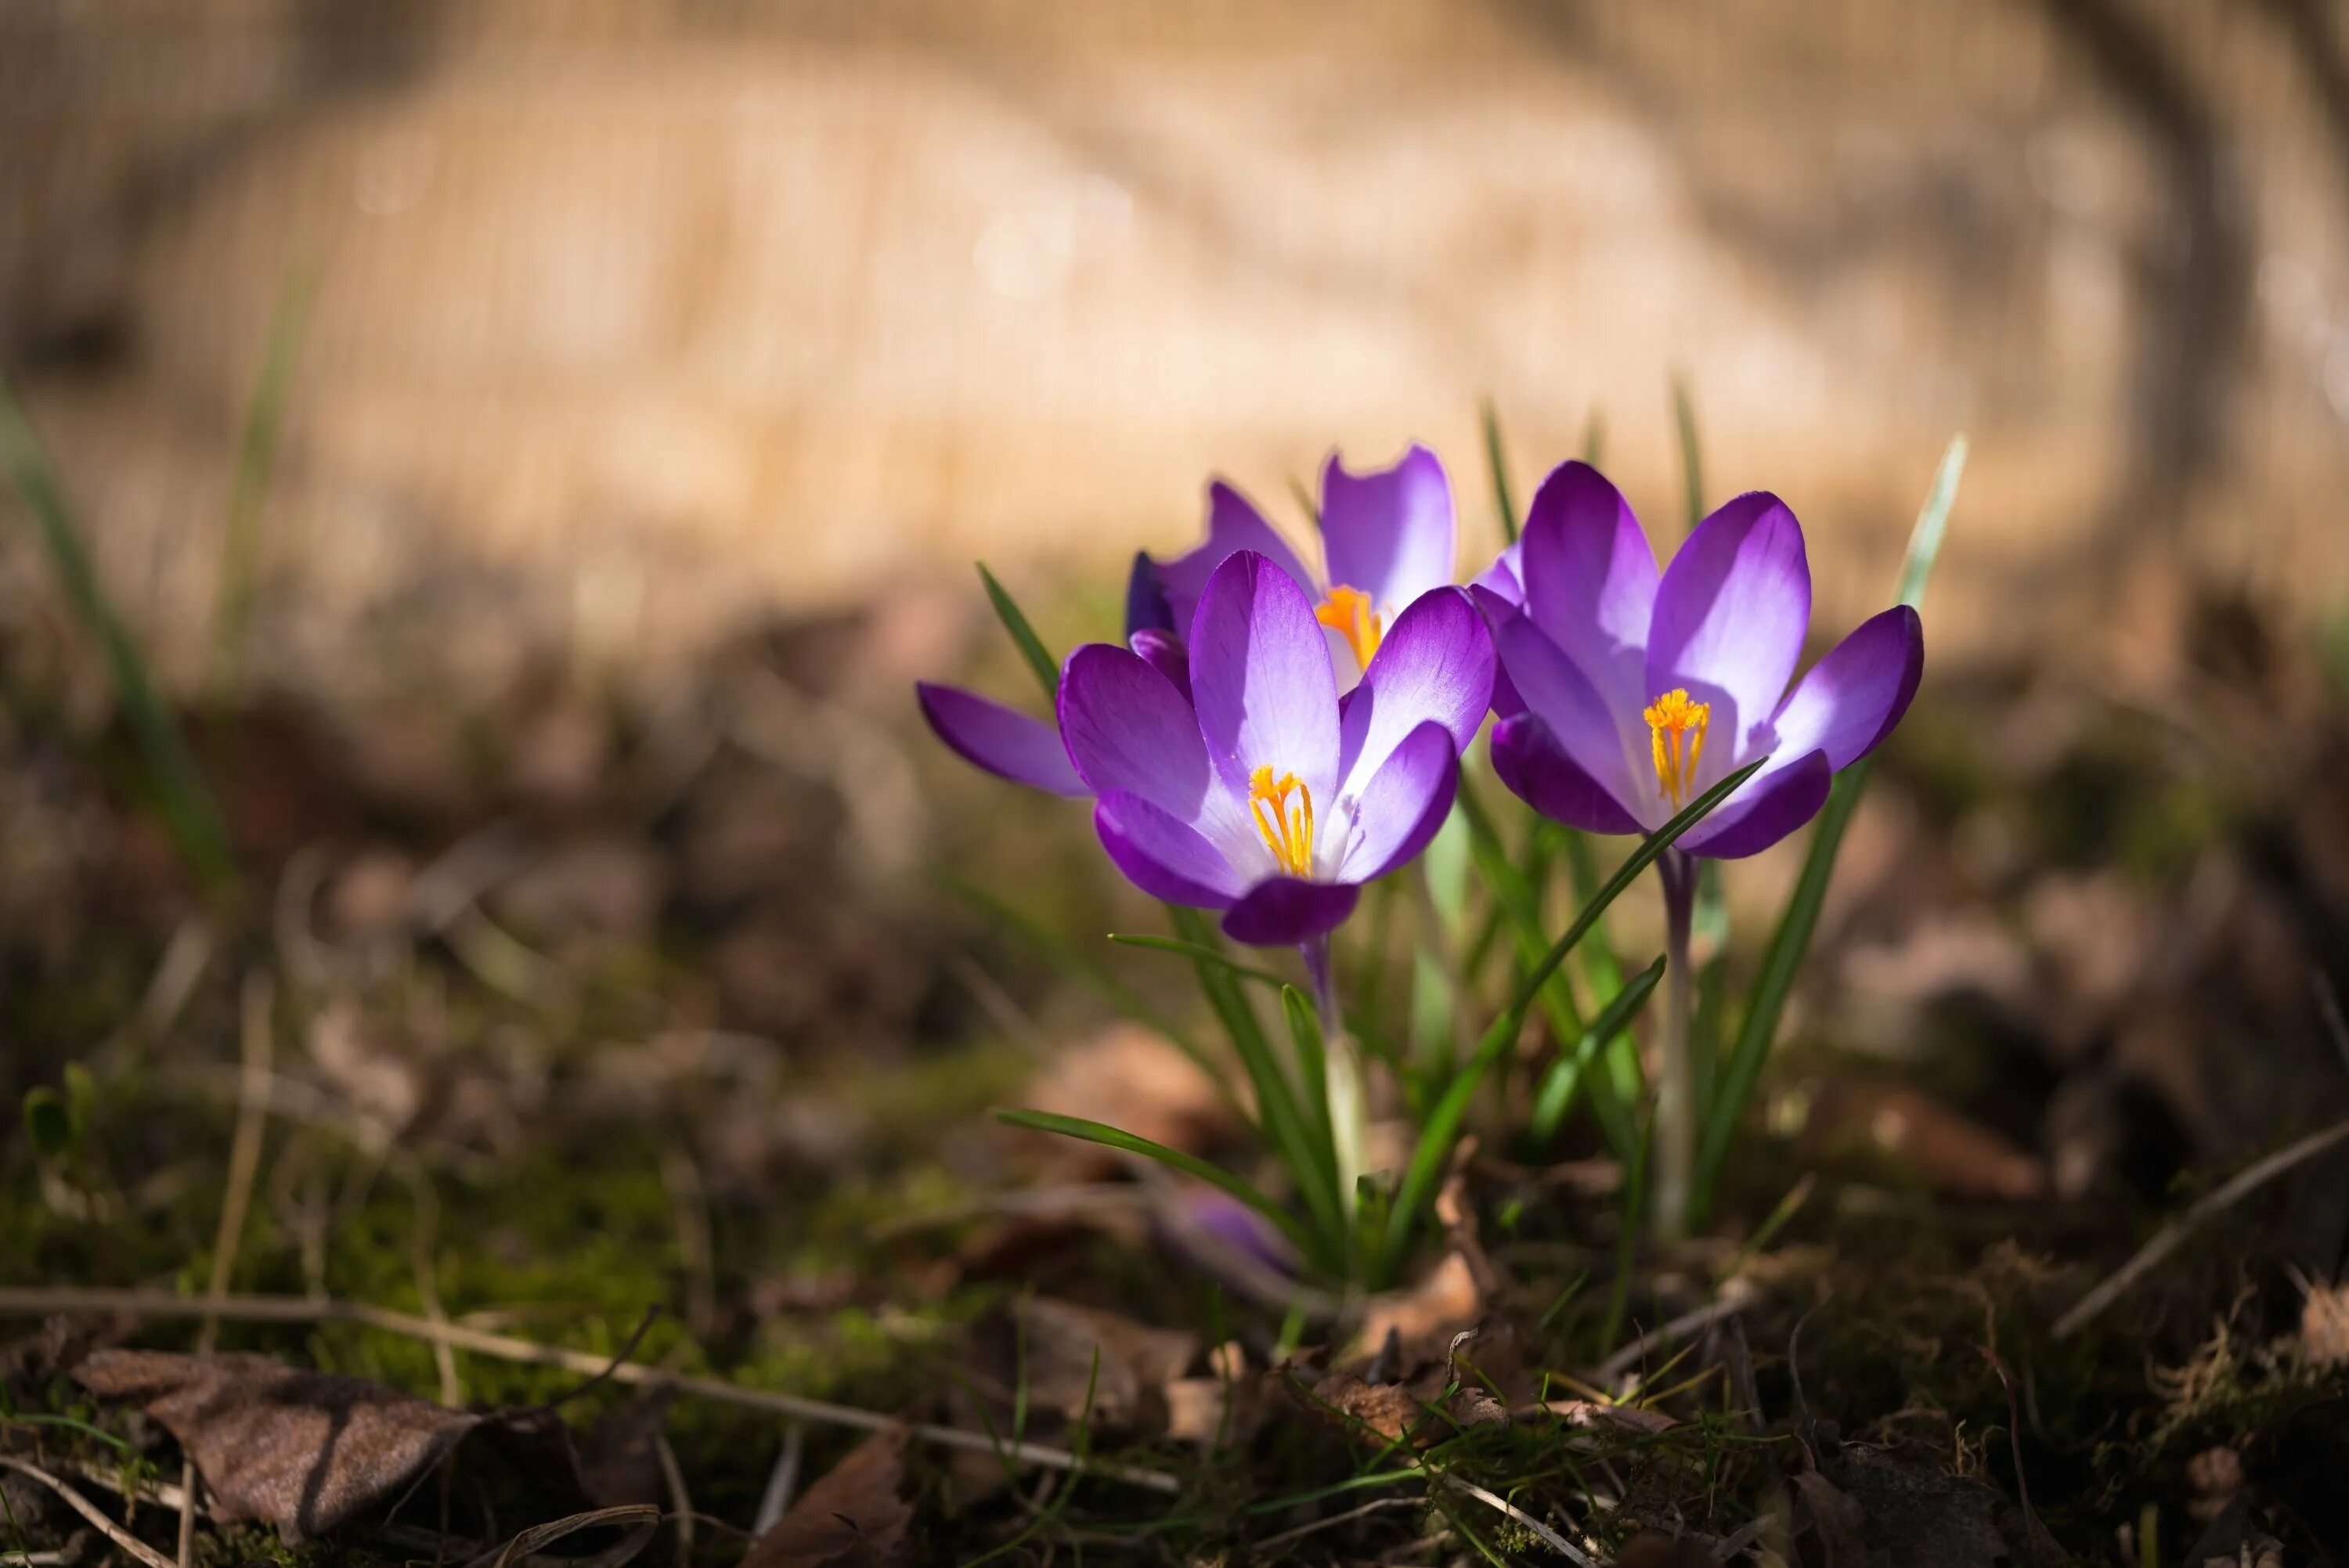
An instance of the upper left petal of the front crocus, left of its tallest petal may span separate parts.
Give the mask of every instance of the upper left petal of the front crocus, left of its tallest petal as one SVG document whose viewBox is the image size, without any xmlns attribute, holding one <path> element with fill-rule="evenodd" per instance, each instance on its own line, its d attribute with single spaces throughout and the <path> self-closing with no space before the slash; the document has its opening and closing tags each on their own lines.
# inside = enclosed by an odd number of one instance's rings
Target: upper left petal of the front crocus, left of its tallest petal
<svg viewBox="0 0 2349 1568">
<path fill-rule="evenodd" d="M 1137 653 L 1085 643 L 1059 671 L 1059 732 L 1092 793 L 1125 791 L 1196 822 L 1214 791 L 1198 721 Z"/>
</svg>

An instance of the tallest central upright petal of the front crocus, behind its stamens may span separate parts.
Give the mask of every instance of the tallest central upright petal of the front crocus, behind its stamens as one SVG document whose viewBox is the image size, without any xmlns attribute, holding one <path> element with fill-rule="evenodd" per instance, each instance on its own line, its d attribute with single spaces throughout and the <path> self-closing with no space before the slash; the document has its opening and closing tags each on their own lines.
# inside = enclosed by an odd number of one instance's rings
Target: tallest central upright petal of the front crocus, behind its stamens
<svg viewBox="0 0 2349 1568">
<path fill-rule="evenodd" d="M 1332 803 L 1337 674 L 1297 580 L 1243 549 L 1207 577 L 1189 641 L 1198 732 L 1226 784 L 1245 796 L 1247 775 L 1271 768 Z"/>
</svg>

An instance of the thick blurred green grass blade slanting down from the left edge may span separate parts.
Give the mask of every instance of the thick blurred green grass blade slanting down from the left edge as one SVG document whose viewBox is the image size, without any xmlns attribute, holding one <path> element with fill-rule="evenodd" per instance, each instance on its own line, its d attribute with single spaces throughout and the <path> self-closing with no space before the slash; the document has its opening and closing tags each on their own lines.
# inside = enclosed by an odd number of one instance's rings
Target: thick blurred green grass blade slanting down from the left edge
<svg viewBox="0 0 2349 1568">
<path fill-rule="evenodd" d="M 63 491 L 56 488 L 40 437 L 33 434 L 33 425 L 26 423 L 23 408 L 16 406 L 5 380 L 0 380 L 0 462 L 7 465 L 23 509 L 40 528 L 73 613 L 106 657 L 115 699 L 122 704 L 122 718 L 139 744 L 171 843 L 179 845 L 181 859 L 202 885 L 214 890 L 233 885 L 237 864 L 228 847 L 228 829 L 221 824 L 211 789 L 195 765 L 195 751 L 188 749 L 179 723 L 155 695 L 146 660 L 99 584 L 96 563 L 82 545 Z"/>
</svg>

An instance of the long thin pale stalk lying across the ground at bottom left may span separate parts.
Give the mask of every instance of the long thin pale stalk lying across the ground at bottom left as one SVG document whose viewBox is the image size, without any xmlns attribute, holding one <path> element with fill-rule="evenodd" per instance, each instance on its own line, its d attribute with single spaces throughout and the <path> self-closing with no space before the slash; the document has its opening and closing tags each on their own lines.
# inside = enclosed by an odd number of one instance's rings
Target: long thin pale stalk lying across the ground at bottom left
<svg viewBox="0 0 2349 1568">
<path fill-rule="evenodd" d="M 524 1361 L 529 1366 L 566 1366 L 576 1373 L 601 1373 L 606 1371 L 604 1357 L 592 1357 L 580 1350 L 559 1350 L 554 1345 L 533 1345 L 531 1340 L 507 1338 L 503 1333 L 484 1333 L 479 1329 L 465 1329 L 463 1324 L 435 1324 L 409 1312 L 392 1312 L 390 1307 L 371 1307 L 357 1300 L 308 1300 L 301 1296 L 230 1296 L 218 1303 L 190 1300 L 186 1296 L 167 1296 L 162 1291 L 101 1291 L 101 1289 L 47 1289 L 47 1286 L 0 1286 L 0 1317 L 47 1317 L 49 1312 L 143 1312 L 148 1317 L 202 1317 L 204 1312 L 216 1312 L 223 1322 L 247 1322 L 247 1324 L 357 1324 L 362 1329 L 376 1329 L 381 1333 L 399 1333 L 411 1340 L 446 1340 L 458 1350 L 470 1350 L 484 1357 L 498 1357 L 503 1361 Z M 879 1415 L 874 1411 L 860 1411 L 846 1404 L 829 1404 L 824 1399 L 801 1399 L 799 1394 L 778 1394 L 761 1387 L 740 1387 L 721 1378 L 695 1378 L 688 1373 L 669 1373 L 658 1366 L 641 1366 L 637 1361 L 625 1361 L 611 1366 L 613 1383 L 627 1383 L 632 1387 L 674 1387 L 681 1394 L 693 1394 L 698 1399 L 716 1399 L 721 1404 L 735 1404 L 752 1411 L 773 1411 L 778 1415 L 789 1415 L 794 1420 L 815 1420 L 829 1427 L 853 1427 L 857 1432 L 888 1432 L 890 1427 L 904 1427 L 914 1437 L 940 1444 L 942 1448 L 970 1448 L 972 1453 L 1010 1455 L 1024 1465 L 1043 1465 L 1048 1469 L 1083 1469 L 1090 1476 L 1104 1481 L 1125 1481 L 1128 1486 L 1146 1486 L 1158 1493 L 1179 1493 L 1182 1481 L 1163 1469 L 1142 1469 L 1135 1465 L 1104 1465 L 1088 1455 L 1069 1453 L 1066 1448 L 1045 1448 L 1043 1444 L 1003 1444 L 984 1432 L 963 1432 L 961 1427 L 937 1427 L 926 1422 L 902 1422 L 895 1415 Z"/>
</svg>

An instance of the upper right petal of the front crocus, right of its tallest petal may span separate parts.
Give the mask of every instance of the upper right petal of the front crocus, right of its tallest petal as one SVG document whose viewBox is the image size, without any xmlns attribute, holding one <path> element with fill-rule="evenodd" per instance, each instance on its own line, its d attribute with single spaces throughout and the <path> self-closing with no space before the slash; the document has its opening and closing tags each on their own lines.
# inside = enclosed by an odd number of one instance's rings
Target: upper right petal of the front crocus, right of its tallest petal
<svg viewBox="0 0 2349 1568">
<path fill-rule="evenodd" d="M 1421 594 L 1395 617 L 1360 685 L 1339 704 L 1339 796 L 1355 796 L 1405 735 L 1431 718 L 1468 749 L 1492 707 L 1492 634 L 1468 594 Z"/>
</svg>

